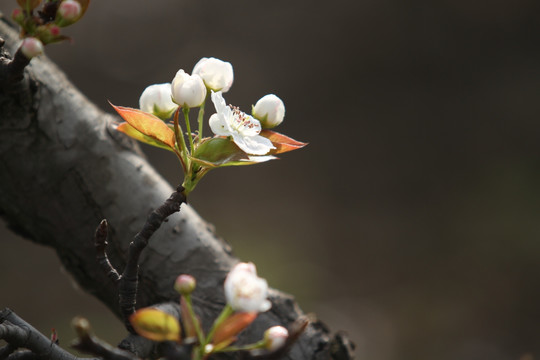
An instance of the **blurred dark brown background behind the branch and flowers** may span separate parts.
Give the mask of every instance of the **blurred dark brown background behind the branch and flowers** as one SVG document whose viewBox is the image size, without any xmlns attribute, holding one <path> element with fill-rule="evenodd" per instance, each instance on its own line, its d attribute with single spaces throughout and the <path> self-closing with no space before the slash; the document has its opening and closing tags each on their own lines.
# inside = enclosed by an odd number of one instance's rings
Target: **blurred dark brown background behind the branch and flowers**
<svg viewBox="0 0 540 360">
<path fill-rule="evenodd" d="M 15 1 L 3 0 L 10 13 Z M 201 57 L 228 102 L 275 93 L 305 149 L 220 169 L 192 205 L 357 344 L 357 358 L 540 358 L 540 17 L 534 0 L 93 1 L 47 54 L 98 106 L 136 107 Z M 212 109 L 212 106 L 209 106 Z M 174 156 L 144 148 L 171 184 Z M 44 332 L 111 313 L 50 249 L 3 234 L 0 306 Z M 62 311 L 60 311 L 62 310 Z"/>
</svg>

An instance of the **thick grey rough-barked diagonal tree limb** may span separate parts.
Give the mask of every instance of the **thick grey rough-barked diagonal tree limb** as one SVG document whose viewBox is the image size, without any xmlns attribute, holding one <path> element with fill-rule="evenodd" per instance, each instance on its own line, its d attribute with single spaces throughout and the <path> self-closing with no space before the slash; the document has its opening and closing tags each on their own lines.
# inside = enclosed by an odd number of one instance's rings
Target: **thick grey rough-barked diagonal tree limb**
<svg viewBox="0 0 540 360">
<path fill-rule="evenodd" d="M 17 34 L 5 21 L 0 21 L 0 37 L 6 40 L 4 49 L 13 54 Z M 9 74 L 5 66 L 0 69 L 4 69 L 0 84 L 5 84 Z M 94 231 L 102 219 L 108 220 L 107 252 L 111 263 L 122 270 L 133 236 L 173 189 L 137 146 L 113 129 L 115 121 L 46 58 L 33 59 L 22 82 L 0 88 L 3 217 L 19 234 L 53 247 L 76 281 L 119 314 L 117 289 L 96 261 Z M 222 283 L 237 261 L 211 225 L 182 205 L 141 256 L 137 307 L 177 301 L 173 282 L 179 274 L 189 273 L 198 282 L 193 296 L 196 311 L 208 327 L 224 305 Z M 246 331 L 246 341 L 301 314 L 288 295 L 272 291 L 271 300 L 272 310 Z M 330 349 L 328 331 L 313 324 L 288 357 L 327 359 Z"/>
</svg>

